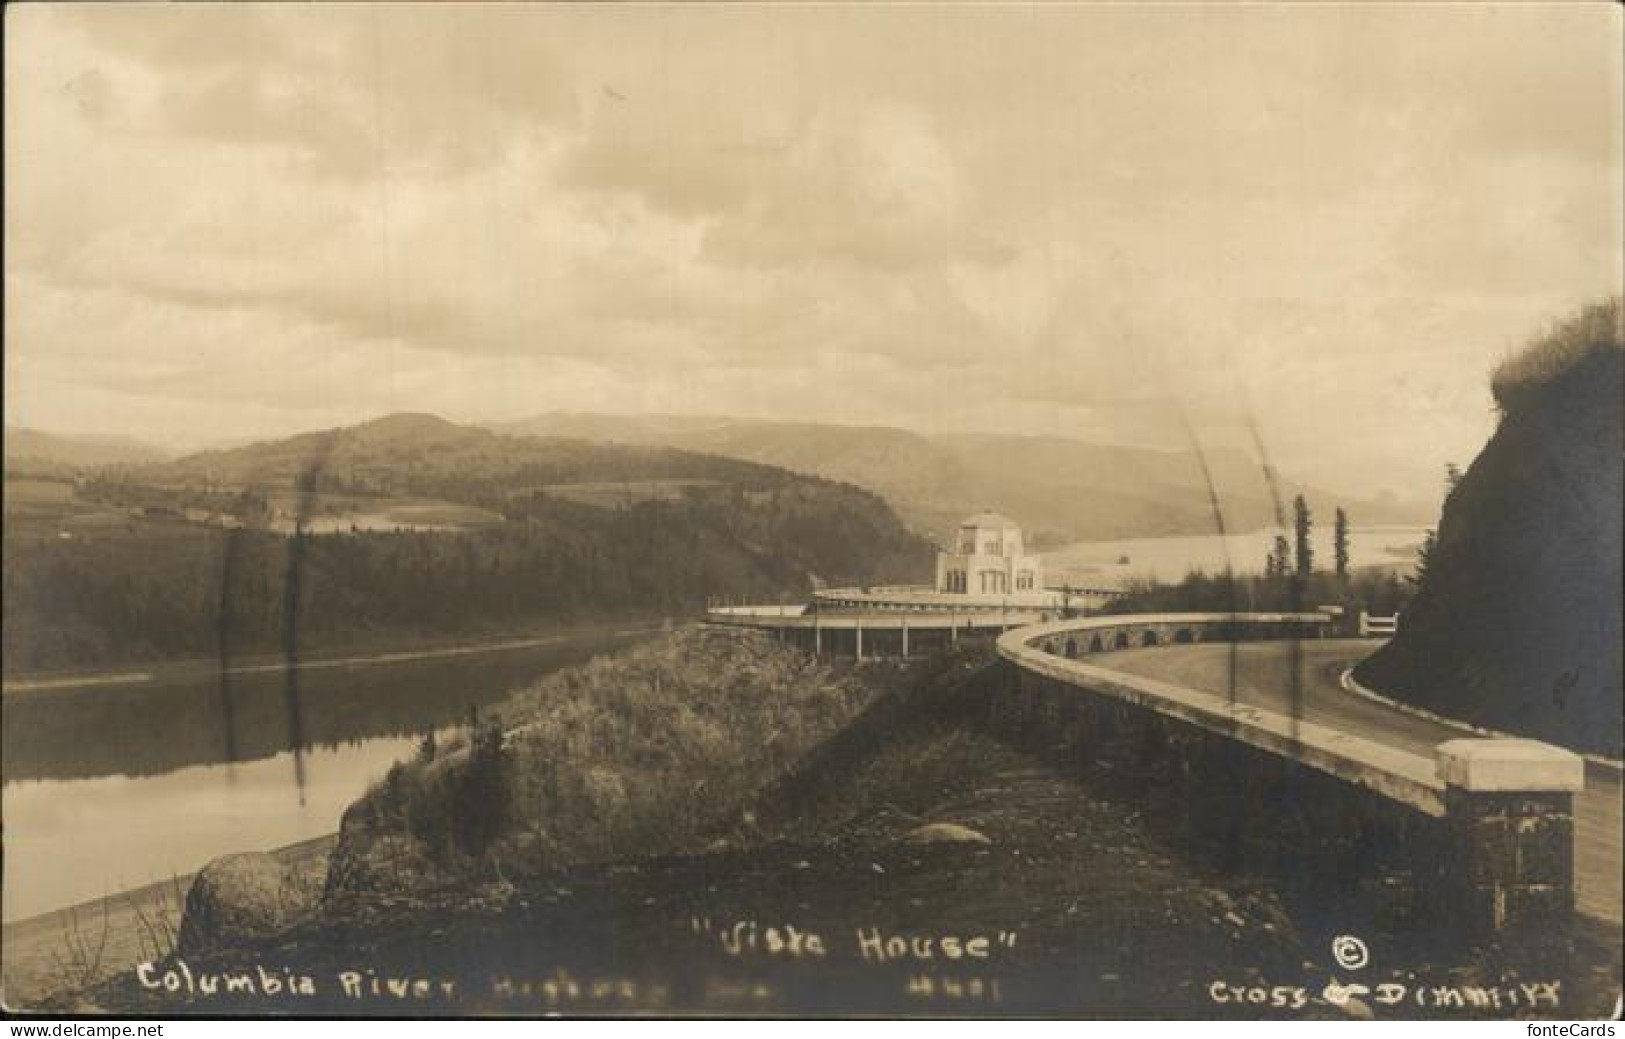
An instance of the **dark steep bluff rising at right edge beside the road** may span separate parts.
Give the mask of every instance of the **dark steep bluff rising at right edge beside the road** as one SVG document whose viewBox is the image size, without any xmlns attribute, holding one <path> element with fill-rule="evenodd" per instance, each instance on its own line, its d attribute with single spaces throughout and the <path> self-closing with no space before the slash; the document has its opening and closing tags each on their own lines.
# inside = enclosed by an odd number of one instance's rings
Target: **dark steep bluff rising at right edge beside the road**
<svg viewBox="0 0 1625 1039">
<path fill-rule="evenodd" d="M 1422 587 L 1362 681 L 1620 754 L 1622 382 L 1618 299 L 1495 372 L 1500 428 L 1445 501 Z"/>
</svg>

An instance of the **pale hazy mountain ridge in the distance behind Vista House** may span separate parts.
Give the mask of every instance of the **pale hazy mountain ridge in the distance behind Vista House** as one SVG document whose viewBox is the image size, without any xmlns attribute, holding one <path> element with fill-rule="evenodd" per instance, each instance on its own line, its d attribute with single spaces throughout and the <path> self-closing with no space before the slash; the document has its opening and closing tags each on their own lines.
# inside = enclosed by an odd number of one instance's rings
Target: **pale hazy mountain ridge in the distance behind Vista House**
<svg viewBox="0 0 1625 1039">
<path fill-rule="evenodd" d="M 1040 545 L 1086 538 L 1212 533 L 1217 494 L 1228 530 L 1290 514 L 1305 494 L 1318 514 L 1346 507 L 1355 522 L 1425 522 L 1424 502 L 1362 499 L 1292 480 L 1276 496 L 1259 463 L 1238 450 L 1206 455 L 1090 444 L 1068 437 L 920 434 L 887 426 L 778 423 L 725 416 L 548 413 L 492 423 L 510 434 L 569 436 L 600 444 L 678 447 L 868 488 L 915 530 L 941 538 L 964 515 L 994 507 Z M 1212 489 L 1209 489 L 1209 478 Z"/>
</svg>

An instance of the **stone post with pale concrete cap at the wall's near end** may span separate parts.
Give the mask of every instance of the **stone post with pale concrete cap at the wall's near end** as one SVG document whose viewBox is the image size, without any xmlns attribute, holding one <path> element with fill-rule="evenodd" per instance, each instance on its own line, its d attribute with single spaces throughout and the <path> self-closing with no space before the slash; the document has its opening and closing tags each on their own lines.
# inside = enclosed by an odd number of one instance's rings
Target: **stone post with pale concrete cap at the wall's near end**
<svg viewBox="0 0 1625 1039">
<path fill-rule="evenodd" d="M 1536 740 L 1448 740 L 1435 748 L 1435 767 L 1445 780 L 1454 915 L 1477 933 L 1566 925 L 1584 761 Z"/>
</svg>

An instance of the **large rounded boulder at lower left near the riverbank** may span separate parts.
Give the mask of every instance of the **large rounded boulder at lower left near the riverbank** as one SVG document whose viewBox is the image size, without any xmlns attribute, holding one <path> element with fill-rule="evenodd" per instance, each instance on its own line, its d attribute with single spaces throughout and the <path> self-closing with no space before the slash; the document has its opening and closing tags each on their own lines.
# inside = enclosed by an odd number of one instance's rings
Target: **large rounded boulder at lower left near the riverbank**
<svg viewBox="0 0 1625 1039">
<path fill-rule="evenodd" d="M 315 912 L 325 859 L 284 863 L 275 855 L 224 855 L 203 867 L 187 891 L 176 951 L 190 956 L 283 933 Z"/>
</svg>

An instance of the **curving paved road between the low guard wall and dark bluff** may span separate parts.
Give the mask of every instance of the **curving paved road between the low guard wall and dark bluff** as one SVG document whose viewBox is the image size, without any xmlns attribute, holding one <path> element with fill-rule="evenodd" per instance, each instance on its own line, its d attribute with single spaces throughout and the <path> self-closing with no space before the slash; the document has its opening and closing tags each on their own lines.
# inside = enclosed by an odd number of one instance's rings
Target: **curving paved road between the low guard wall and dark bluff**
<svg viewBox="0 0 1625 1039">
<path fill-rule="evenodd" d="M 1300 642 L 1298 681 L 1294 683 L 1292 647 L 1287 642 L 1243 642 L 1237 646 L 1235 696 L 1256 707 L 1290 712 L 1294 685 L 1303 717 L 1334 725 L 1370 740 L 1432 756 L 1433 746 L 1472 735 L 1446 722 L 1435 722 L 1378 701 L 1349 693 L 1339 683 L 1375 647 L 1360 639 Z M 1227 694 L 1230 647 L 1167 646 L 1124 649 L 1089 657 L 1089 663 L 1133 675 L 1173 681 L 1204 693 Z M 1622 805 L 1620 772 L 1609 766 L 1586 764 L 1586 789 L 1575 798 L 1575 888 L 1580 911 L 1620 924 L 1622 906 Z"/>
</svg>

